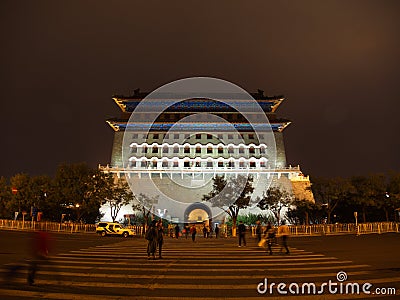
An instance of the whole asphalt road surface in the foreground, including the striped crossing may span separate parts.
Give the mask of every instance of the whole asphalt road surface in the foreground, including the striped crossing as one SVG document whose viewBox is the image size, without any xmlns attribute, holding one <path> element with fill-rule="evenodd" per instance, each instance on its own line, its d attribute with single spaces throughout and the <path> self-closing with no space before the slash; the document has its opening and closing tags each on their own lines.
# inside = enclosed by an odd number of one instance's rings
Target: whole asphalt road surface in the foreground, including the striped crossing
<svg viewBox="0 0 400 300">
<path fill-rule="evenodd" d="M 0 231 L 1 272 L 21 265 L 13 280 L 3 276 L 0 299 L 400 299 L 400 234 L 293 237 L 289 255 L 274 245 L 271 256 L 249 235 L 241 248 L 235 238 L 165 237 L 156 260 L 143 238 L 52 237 L 29 286 L 30 234 Z"/>
</svg>

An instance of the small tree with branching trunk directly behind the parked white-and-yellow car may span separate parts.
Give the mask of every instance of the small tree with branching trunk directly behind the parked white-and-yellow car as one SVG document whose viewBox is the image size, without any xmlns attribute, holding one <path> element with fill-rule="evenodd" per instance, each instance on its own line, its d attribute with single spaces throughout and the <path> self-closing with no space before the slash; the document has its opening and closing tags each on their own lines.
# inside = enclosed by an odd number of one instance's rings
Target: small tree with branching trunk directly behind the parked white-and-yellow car
<svg viewBox="0 0 400 300">
<path fill-rule="evenodd" d="M 111 218 L 113 222 L 117 219 L 118 213 L 121 208 L 131 203 L 134 199 L 133 193 L 129 189 L 129 185 L 125 180 L 118 180 L 113 184 L 111 189 L 111 197 L 106 198 L 107 204 L 111 209 Z"/>
</svg>

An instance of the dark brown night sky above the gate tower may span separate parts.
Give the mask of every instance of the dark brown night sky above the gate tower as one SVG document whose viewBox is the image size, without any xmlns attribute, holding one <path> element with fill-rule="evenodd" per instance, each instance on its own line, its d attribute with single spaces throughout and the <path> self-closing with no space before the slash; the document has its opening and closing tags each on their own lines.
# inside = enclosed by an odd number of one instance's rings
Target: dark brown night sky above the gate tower
<svg viewBox="0 0 400 300">
<path fill-rule="evenodd" d="M 286 97 L 288 163 L 400 171 L 400 1 L 0 2 L 0 176 L 110 162 L 113 94 L 217 77 Z"/>
</svg>

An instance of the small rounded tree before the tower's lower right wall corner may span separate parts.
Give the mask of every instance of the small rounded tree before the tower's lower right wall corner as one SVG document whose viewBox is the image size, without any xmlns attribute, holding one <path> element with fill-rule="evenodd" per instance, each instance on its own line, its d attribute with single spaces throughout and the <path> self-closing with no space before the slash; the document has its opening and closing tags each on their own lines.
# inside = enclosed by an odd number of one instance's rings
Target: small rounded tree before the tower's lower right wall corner
<svg viewBox="0 0 400 300">
<path fill-rule="evenodd" d="M 279 187 L 271 187 L 263 193 L 257 206 L 263 210 L 269 209 L 279 225 L 282 209 L 284 207 L 289 207 L 292 200 L 292 195 L 286 190 Z"/>
</svg>

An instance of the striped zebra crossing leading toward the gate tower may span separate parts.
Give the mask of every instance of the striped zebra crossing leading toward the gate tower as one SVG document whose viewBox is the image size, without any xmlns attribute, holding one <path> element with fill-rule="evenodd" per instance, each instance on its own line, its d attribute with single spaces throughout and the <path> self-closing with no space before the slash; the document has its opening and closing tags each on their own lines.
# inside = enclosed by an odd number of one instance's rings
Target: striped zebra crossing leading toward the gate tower
<svg viewBox="0 0 400 300">
<path fill-rule="evenodd" d="M 26 268 L 13 281 L 6 278 L 0 299 L 348 299 L 365 294 L 333 294 L 321 286 L 329 280 L 337 288 L 347 282 L 386 287 L 400 282 L 381 278 L 369 265 L 302 249 L 286 255 L 274 246 L 267 255 L 252 240 L 239 248 L 236 239 L 166 238 L 163 248 L 163 259 L 156 260 L 147 259 L 146 241 L 139 238 L 60 253 L 40 267 L 34 286 L 26 284 Z"/>
</svg>

